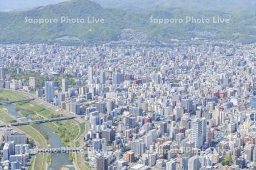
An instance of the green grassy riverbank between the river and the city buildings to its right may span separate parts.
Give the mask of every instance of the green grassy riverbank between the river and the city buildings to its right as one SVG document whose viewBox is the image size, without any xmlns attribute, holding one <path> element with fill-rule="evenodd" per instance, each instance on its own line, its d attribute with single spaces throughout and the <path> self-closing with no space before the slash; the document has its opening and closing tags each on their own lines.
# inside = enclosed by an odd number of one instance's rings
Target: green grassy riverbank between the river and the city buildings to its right
<svg viewBox="0 0 256 170">
<path fill-rule="evenodd" d="M 0 99 L 1 99 L 1 94 L 6 94 L 6 93 L 10 94 L 9 100 L 13 100 L 11 99 L 11 97 L 15 96 L 16 93 L 19 94 L 18 99 L 22 97 L 21 94 L 24 94 L 24 97 L 31 97 L 31 96 L 34 97 L 34 95 L 30 95 L 23 92 L 11 91 L 11 90 L 0 90 Z M 53 108 L 55 108 L 54 106 L 49 105 L 48 103 L 40 99 L 38 100 L 36 99 L 36 101 L 21 101 L 18 103 L 14 103 L 14 105 L 16 106 L 16 111 L 18 111 L 20 115 L 27 116 L 29 114 L 31 120 L 60 117 L 60 116 L 63 116 L 63 114 L 67 116 L 68 114 L 70 114 L 70 113 L 67 113 L 67 111 L 59 111 L 59 109 L 53 110 Z M 60 141 L 61 143 L 63 143 L 64 146 L 66 147 L 82 146 L 84 142 L 83 141 L 84 134 L 87 132 L 86 126 L 88 125 L 86 125 L 85 120 L 82 118 L 79 118 L 79 119 L 77 118 L 76 120 L 51 122 L 51 123 L 46 123 L 44 125 L 47 128 L 51 129 L 53 133 L 55 133 L 57 137 L 60 138 Z M 31 133 L 31 135 L 35 135 L 35 134 Z M 42 135 L 42 131 L 41 131 L 41 135 Z M 73 153 L 72 155 L 73 155 L 73 163 L 76 164 L 76 167 L 78 169 L 89 169 L 88 167 L 86 167 L 85 160 L 82 154 Z M 49 159 L 47 159 L 49 158 L 49 156 L 43 156 L 42 158 L 42 155 L 37 155 L 36 157 L 37 157 L 35 160 L 36 164 L 39 163 L 38 160 L 43 160 L 45 162 L 48 162 L 48 164 L 49 162 L 51 162 L 49 161 Z"/>
</svg>

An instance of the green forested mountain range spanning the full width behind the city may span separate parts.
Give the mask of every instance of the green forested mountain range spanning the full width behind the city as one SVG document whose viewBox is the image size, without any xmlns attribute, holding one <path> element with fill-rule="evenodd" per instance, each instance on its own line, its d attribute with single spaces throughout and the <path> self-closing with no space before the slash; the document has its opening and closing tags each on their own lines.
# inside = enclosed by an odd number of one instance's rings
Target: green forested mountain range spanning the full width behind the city
<svg viewBox="0 0 256 170">
<path fill-rule="evenodd" d="M 152 1 L 156 4 L 165 0 L 142 0 L 141 3 L 145 1 Z M 170 1 L 177 2 L 176 0 Z M 190 2 L 192 0 L 184 1 Z M 200 1 L 203 0 L 197 0 L 197 3 Z M 134 5 L 136 4 L 138 5 L 138 3 L 134 3 Z M 0 43 L 95 44 L 118 40 L 122 30 L 126 28 L 144 32 L 159 41 L 191 39 L 206 34 L 207 37 L 214 39 L 255 42 L 255 13 L 253 10 L 246 10 L 246 12 L 237 10 L 234 13 L 210 10 L 195 12 L 181 7 L 164 9 L 157 6 L 130 11 L 104 8 L 89 0 L 73 0 L 46 7 L 37 7 L 28 11 L 0 12 Z M 66 16 L 69 19 L 75 19 L 76 23 L 67 23 L 67 20 L 61 22 L 61 18 Z M 181 23 L 156 23 L 159 22 L 159 19 L 185 20 L 187 16 L 199 19 L 210 19 L 213 16 L 218 16 L 230 18 L 232 23 L 186 23 L 185 21 Z M 88 17 L 90 23 L 88 23 Z M 84 19 L 84 22 L 77 23 L 76 18 Z M 47 19 L 52 19 L 52 22 L 31 23 L 33 22 L 31 19 L 43 19 L 44 22 Z M 68 22 L 71 21 L 69 19 Z M 104 21 L 100 22 L 100 19 L 104 19 Z"/>
</svg>

